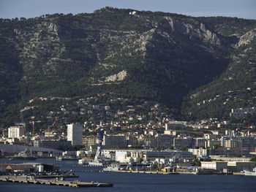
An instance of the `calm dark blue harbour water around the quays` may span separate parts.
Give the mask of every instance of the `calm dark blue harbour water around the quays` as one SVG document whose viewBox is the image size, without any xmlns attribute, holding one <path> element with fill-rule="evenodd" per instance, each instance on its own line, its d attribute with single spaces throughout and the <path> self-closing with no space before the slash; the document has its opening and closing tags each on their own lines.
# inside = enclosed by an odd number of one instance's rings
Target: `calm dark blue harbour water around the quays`
<svg viewBox="0 0 256 192">
<path fill-rule="evenodd" d="M 1 162 L 1 160 L 0 160 Z M 6 162 L 6 161 L 4 161 Z M 7 161 L 21 163 L 20 161 Z M 61 164 L 62 170 L 102 169 L 99 167 L 78 167 L 76 161 L 55 161 L 37 159 L 37 162 Z M 131 174 L 131 173 L 83 173 L 78 172 L 79 180 L 113 183 L 113 188 L 69 188 L 20 183 L 0 182 L 0 191 L 256 191 L 256 177 L 240 175 L 193 175 L 193 174 Z"/>
</svg>

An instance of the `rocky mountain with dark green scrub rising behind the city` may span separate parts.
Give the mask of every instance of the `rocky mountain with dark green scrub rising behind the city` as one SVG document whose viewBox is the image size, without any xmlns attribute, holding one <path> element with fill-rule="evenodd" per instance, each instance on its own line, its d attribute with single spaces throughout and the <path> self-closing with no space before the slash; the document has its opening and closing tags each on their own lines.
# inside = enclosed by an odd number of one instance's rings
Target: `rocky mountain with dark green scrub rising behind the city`
<svg viewBox="0 0 256 192">
<path fill-rule="evenodd" d="M 1 19 L 0 118 L 17 119 L 38 97 L 99 93 L 159 101 L 180 118 L 254 106 L 255 29 L 256 20 L 112 7 Z"/>
</svg>

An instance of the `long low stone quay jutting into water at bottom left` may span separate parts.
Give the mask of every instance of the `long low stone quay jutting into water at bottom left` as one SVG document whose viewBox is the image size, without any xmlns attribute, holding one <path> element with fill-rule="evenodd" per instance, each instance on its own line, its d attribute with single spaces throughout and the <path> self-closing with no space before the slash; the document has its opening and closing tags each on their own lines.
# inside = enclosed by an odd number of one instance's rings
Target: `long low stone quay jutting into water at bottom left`
<svg viewBox="0 0 256 192">
<path fill-rule="evenodd" d="M 51 180 L 44 180 L 44 179 L 35 179 L 34 177 L 29 177 L 29 176 L 1 175 L 0 181 L 13 182 L 13 183 L 32 183 L 32 184 L 41 184 L 41 185 L 59 185 L 59 186 L 68 186 L 68 187 L 75 187 L 75 188 L 113 187 L 112 183 L 97 183 L 94 181 L 81 182 L 79 180 L 65 181 L 65 180 L 58 180 L 56 178 Z"/>
</svg>

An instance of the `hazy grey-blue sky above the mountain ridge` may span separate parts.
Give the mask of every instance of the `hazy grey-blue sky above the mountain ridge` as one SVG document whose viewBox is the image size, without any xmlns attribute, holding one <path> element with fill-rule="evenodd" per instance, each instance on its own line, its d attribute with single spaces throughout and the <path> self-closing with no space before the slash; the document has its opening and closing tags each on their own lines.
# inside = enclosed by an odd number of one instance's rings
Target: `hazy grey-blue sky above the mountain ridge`
<svg viewBox="0 0 256 192">
<path fill-rule="evenodd" d="M 0 0 L 0 18 L 94 12 L 102 7 L 256 19 L 256 0 Z"/>
</svg>

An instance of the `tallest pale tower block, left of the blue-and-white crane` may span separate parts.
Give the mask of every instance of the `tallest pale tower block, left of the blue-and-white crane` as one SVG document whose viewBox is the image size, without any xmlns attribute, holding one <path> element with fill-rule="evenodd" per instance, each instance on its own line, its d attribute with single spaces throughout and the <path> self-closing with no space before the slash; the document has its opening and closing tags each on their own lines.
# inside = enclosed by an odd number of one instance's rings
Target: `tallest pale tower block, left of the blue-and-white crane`
<svg viewBox="0 0 256 192">
<path fill-rule="evenodd" d="M 74 123 L 67 125 L 67 141 L 70 141 L 72 146 L 83 145 L 83 126 Z"/>
</svg>

